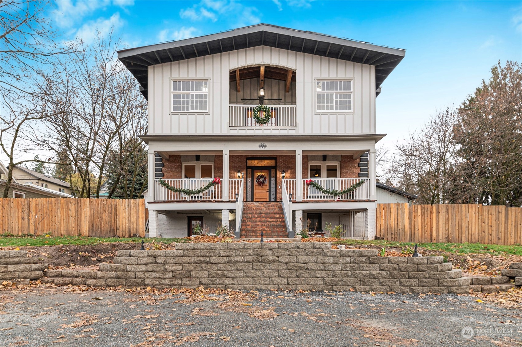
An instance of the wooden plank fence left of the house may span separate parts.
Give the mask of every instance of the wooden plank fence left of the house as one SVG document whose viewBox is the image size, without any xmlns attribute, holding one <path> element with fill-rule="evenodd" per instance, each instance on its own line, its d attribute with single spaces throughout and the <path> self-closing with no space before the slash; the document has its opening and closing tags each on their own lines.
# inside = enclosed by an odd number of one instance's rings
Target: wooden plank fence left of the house
<svg viewBox="0 0 522 347">
<path fill-rule="evenodd" d="M 144 199 L 0 198 L 0 234 L 145 236 Z"/>
</svg>

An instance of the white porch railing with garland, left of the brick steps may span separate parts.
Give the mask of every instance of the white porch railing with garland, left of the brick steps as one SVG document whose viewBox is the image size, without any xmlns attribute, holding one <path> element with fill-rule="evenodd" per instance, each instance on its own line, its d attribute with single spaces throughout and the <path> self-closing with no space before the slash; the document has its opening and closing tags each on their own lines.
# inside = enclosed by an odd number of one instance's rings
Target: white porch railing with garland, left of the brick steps
<svg viewBox="0 0 522 347">
<path fill-rule="evenodd" d="M 163 181 L 174 188 L 197 190 L 212 182 L 213 178 L 167 178 Z M 211 186 L 205 192 L 196 195 L 186 195 L 172 192 L 160 185 L 159 180 L 154 180 L 155 201 L 198 201 L 198 200 L 221 200 L 221 184 Z"/>
</svg>

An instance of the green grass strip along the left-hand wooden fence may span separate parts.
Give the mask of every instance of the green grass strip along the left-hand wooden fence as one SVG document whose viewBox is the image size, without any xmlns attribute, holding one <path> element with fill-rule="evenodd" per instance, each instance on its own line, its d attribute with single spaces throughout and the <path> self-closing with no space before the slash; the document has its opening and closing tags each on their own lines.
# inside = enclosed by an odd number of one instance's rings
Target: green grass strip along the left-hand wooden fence
<svg viewBox="0 0 522 347">
<path fill-rule="evenodd" d="M 89 236 L 0 236 L 0 247 L 5 246 L 53 246 L 53 245 L 94 245 L 97 243 L 140 243 L 139 237 L 89 237 Z M 186 242 L 183 238 L 155 238 L 144 239 L 145 242 L 152 240 L 164 243 Z"/>
</svg>

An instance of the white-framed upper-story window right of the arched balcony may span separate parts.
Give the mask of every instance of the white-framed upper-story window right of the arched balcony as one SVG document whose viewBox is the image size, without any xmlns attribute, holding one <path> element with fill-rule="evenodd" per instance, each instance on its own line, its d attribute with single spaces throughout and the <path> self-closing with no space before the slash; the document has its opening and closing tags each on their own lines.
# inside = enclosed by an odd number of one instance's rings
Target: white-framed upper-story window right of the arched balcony
<svg viewBox="0 0 522 347">
<path fill-rule="evenodd" d="M 317 111 L 352 111 L 352 81 L 317 81 Z"/>
</svg>

